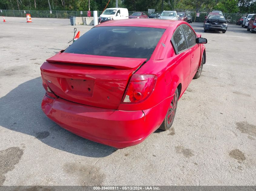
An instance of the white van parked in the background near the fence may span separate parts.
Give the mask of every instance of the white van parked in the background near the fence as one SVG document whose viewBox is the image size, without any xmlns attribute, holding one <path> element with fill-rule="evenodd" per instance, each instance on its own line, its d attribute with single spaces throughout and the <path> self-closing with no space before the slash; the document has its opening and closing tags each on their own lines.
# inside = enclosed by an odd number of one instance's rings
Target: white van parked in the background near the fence
<svg viewBox="0 0 256 191">
<path fill-rule="evenodd" d="M 111 20 L 128 19 L 129 13 L 126 8 L 107 8 L 99 16 L 99 23 Z"/>
</svg>

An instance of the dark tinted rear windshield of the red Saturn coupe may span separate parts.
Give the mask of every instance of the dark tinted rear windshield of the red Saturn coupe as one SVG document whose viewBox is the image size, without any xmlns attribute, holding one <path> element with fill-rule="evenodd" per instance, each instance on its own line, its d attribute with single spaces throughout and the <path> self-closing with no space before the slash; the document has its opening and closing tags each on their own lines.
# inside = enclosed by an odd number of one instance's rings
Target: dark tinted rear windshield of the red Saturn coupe
<svg viewBox="0 0 256 191">
<path fill-rule="evenodd" d="M 64 53 L 149 59 L 164 32 L 147 27 L 94 27 Z"/>
</svg>

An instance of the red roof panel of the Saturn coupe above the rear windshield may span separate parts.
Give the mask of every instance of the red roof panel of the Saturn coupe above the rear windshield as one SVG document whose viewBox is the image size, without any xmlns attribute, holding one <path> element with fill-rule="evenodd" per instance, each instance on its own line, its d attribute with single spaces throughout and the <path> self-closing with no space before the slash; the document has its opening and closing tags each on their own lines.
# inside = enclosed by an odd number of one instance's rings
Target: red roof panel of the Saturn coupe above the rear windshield
<svg viewBox="0 0 256 191">
<path fill-rule="evenodd" d="M 121 19 L 114 21 L 106 21 L 104 23 L 98 24 L 95 27 L 109 27 L 109 26 L 122 26 L 122 27 L 149 27 L 149 28 L 161 28 L 167 29 L 172 23 L 181 22 L 174 20 L 164 20 L 164 19 Z"/>
</svg>

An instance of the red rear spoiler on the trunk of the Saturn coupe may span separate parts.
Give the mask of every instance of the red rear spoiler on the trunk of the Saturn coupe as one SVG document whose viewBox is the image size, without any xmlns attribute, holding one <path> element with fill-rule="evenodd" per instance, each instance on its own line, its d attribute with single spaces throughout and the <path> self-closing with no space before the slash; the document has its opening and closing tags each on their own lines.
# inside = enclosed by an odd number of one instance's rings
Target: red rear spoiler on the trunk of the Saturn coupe
<svg viewBox="0 0 256 191">
<path fill-rule="evenodd" d="M 62 52 L 62 51 L 61 51 Z M 73 53 L 61 53 L 59 52 L 55 56 L 47 59 L 50 63 L 71 63 L 82 65 L 96 65 L 96 66 L 108 66 L 117 69 L 132 69 L 137 68 L 147 59 L 144 58 L 120 58 L 109 56 L 95 56 L 85 54 L 73 54 Z"/>
</svg>

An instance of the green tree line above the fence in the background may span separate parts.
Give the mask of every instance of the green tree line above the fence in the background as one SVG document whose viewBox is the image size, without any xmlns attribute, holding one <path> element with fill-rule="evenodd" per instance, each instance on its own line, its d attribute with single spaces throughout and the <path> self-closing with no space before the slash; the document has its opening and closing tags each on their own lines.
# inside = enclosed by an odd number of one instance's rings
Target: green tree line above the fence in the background
<svg viewBox="0 0 256 191">
<path fill-rule="evenodd" d="M 109 0 L 90 0 L 91 10 L 103 11 Z M 110 0 L 107 8 L 115 7 Z M 65 10 L 86 11 L 88 0 L 0 0 L 0 9 L 7 10 Z M 256 13 L 256 0 L 118 0 L 118 7 L 129 11 L 193 10 L 224 13 Z"/>
</svg>

